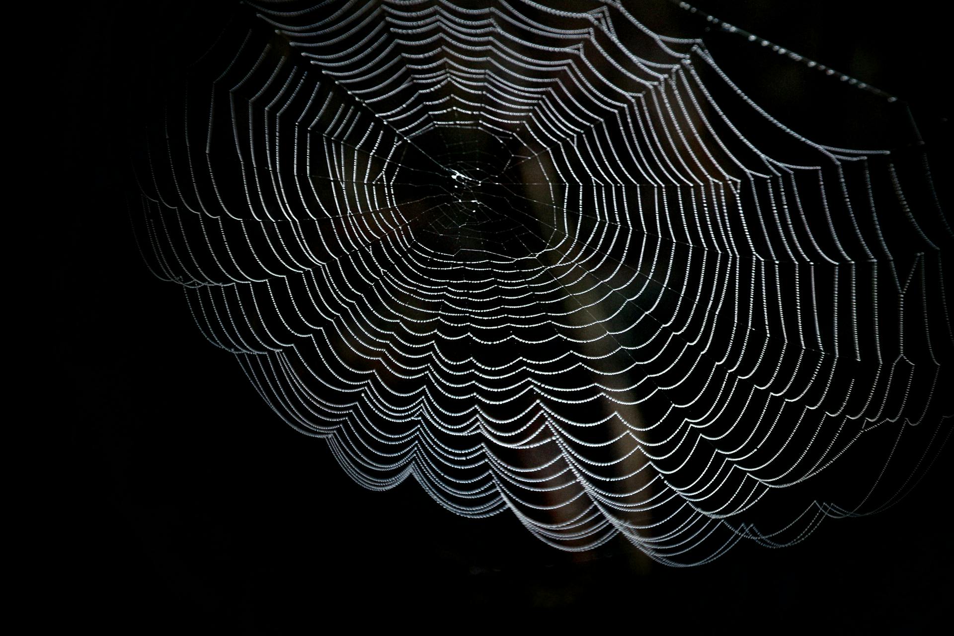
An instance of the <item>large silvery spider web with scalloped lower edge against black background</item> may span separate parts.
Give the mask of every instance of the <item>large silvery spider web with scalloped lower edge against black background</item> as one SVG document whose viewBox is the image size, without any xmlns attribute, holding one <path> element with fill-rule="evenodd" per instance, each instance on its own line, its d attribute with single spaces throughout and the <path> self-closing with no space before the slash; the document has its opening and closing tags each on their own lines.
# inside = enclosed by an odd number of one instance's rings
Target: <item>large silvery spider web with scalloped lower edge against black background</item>
<svg viewBox="0 0 954 636">
<path fill-rule="evenodd" d="M 634 4 L 246 5 L 134 222 L 355 481 L 697 564 L 921 479 L 952 232 L 922 154 L 799 136 Z"/>
</svg>

